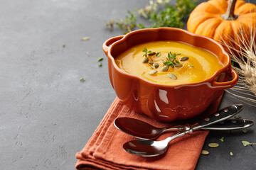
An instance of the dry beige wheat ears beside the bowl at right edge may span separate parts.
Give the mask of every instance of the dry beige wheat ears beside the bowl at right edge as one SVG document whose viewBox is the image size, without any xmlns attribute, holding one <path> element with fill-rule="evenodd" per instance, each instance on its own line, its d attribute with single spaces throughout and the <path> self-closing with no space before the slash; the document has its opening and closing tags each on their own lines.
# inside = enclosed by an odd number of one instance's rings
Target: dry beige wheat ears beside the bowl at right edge
<svg viewBox="0 0 256 170">
<path fill-rule="evenodd" d="M 242 30 L 240 31 L 239 40 L 235 41 L 228 37 L 235 44 L 234 46 L 222 41 L 224 47 L 228 49 L 231 60 L 238 63 L 239 67 L 233 67 L 233 69 L 240 75 L 238 84 L 225 91 L 232 94 L 239 101 L 244 101 L 250 106 L 256 107 L 256 27 L 250 24 L 249 37 L 247 37 L 242 24 L 240 27 Z"/>
</svg>

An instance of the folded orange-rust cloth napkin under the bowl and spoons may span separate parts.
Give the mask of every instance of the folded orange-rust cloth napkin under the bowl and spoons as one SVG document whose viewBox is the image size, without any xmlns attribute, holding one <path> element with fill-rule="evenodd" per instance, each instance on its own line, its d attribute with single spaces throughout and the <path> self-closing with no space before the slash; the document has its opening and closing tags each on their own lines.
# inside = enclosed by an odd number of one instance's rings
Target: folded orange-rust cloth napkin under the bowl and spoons
<svg viewBox="0 0 256 170">
<path fill-rule="evenodd" d="M 220 99 L 209 106 L 208 113 L 218 109 Z M 76 154 L 76 169 L 195 169 L 208 131 L 193 132 L 172 141 L 166 154 L 159 157 L 139 157 L 122 148 L 125 142 L 135 138 L 114 127 L 114 119 L 120 117 L 137 118 L 156 127 L 170 125 L 134 113 L 116 98 L 89 142 Z M 158 140 L 169 135 L 161 135 Z"/>
</svg>

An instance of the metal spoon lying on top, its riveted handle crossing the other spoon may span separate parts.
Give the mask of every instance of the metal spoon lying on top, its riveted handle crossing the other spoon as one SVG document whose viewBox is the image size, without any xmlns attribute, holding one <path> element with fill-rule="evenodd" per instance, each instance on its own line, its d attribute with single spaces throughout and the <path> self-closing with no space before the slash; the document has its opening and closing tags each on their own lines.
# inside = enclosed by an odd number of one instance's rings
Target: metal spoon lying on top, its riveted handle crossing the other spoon
<svg viewBox="0 0 256 170">
<path fill-rule="evenodd" d="M 224 108 L 223 110 L 220 110 L 217 113 L 210 115 L 209 118 L 205 118 L 205 120 L 195 125 L 187 126 L 185 130 L 180 130 L 176 134 L 167 137 L 165 140 L 132 140 L 126 142 L 123 145 L 123 148 L 130 154 L 136 154 L 142 157 L 155 157 L 160 154 L 164 154 L 168 148 L 169 142 L 171 142 L 172 140 L 178 137 L 183 137 L 186 134 L 191 134 L 196 130 L 201 130 L 206 126 L 220 123 L 223 120 L 231 118 L 239 113 L 242 108 L 243 106 L 241 104 L 229 106 L 228 108 Z"/>
</svg>

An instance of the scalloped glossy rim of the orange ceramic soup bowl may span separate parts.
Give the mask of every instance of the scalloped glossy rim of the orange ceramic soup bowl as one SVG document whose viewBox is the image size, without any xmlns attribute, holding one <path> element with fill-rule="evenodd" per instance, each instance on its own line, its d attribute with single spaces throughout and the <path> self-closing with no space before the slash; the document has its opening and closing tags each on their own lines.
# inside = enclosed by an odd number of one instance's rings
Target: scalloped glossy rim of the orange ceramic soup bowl
<svg viewBox="0 0 256 170">
<path fill-rule="evenodd" d="M 159 31 L 159 30 L 178 30 L 178 31 L 181 31 L 181 32 L 183 32 L 183 33 L 185 33 L 185 34 L 191 35 L 191 36 L 193 36 L 193 37 L 204 38 L 204 39 L 206 39 L 206 40 L 209 40 L 210 42 L 213 42 L 213 43 L 215 43 L 215 45 L 218 45 L 218 47 L 220 47 L 220 50 L 221 50 L 221 52 L 223 53 L 223 55 L 225 55 L 226 57 L 228 57 L 228 62 L 227 62 L 227 64 L 225 64 L 221 69 L 218 69 L 218 71 L 216 71 L 216 72 L 213 74 L 213 76 L 211 76 L 211 77 L 208 78 L 208 79 L 205 79 L 205 80 L 203 80 L 203 81 L 193 82 L 193 83 L 175 84 L 175 85 L 172 85 L 172 84 L 160 84 L 160 83 L 155 83 L 155 82 L 153 82 L 153 81 L 149 81 L 149 80 L 144 79 L 144 78 L 142 78 L 142 77 L 139 77 L 139 76 L 136 76 L 136 75 L 133 75 L 133 74 L 129 74 L 129 73 L 125 72 L 124 70 L 120 69 L 120 68 L 117 66 L 117 64 L 116 64 L 116 62 L 115 62 L 115 60 L 114 60 L 114 57 L 111 55 L 112 49 L 113 49 L 114 45 L 117 45 L 117 44 L 120 43 L 120 42 L 124 42 L 125 40 L 127 40 L 127 38 L 128 38 L 129 36 L 134 35 L 134 34 L 136 34 L 136 33 L 139 33 L 139 32 L 142 32 L 142 31 Z M 118 36 L 118 37 L 120 37 L 120 39 L 117 40 L 117 41 L 115 41 L 115 42 L 113 42 L 113 43 L 109 46 L 109 50 L 108 50 L 108 52 L 107 52 L 107 57 L 110 58 L 110 60 L 112 60 L 112 64 L 113 64 L 113 66 L 114 66 L 114 69 L 116 69 L 117 72 L 120 72 L 120 73 L 124 74 L 125 76 L 127 76 L 127 77 L 129 77 L 129 78 L 138 79 L 139 81 L 144 81 L 144 82 L 146 82 L 147 84 L 151 84 L 151 85 L 153 85 L 153 86 L 160 86 L 160 87 L 164 87 L 164 88 L 166 88 L 166 87 L 174 88 L 174 87 L 181 87 L 181 86 L 195 86 L 195 85 L 198 85 L 198 84 L 209 84 L 211 81 L 213 81 L 213 80 L 218 76 L 218 74 L 220 74 L 220 73 L 222 73 L 222 72 L 227 72 L 226 69 L 228 69 L 228 68 L 231 69 L 231 59 L 230 59 L 230 55 L 228 55 L 228 52 L 226 52 L 226 51 L 224 50 L 223 46 L 220 45 L 219 42 L 217 42 L 217 41 L 215 41 L 215 40 L 213 40 L 213 39 L 211 39 L 211 38 L 208 38 L 208 37 L 206 37 L 206 36 L 203 36 L 203 35 L 197 35 L 197 34 L 195 34 L 195 33 L 191 33 L 191 32 L 189 32 L 188 30 L 183 30 L 183 29 L 181 29 L 181 28 L 169 28 L 169 27 L 144 28 L 144 29 L 134 30 L 134 31 L 132 31 L 132 32 L 130 32 L 130 33 L 127 33 L 126 35 L 121 35 L 121 36 Z M 112 38 L 110 38 L 110 39 L 112 39 Z M 109 39 L 109 40 L 110 40 L 110 39 Z M 105 42 L 107 42 L 107 41 L 108 41 L 108 40 L 106 40 Z M 181 41 L 181 42 L 182 42 L 182 41 Z M 188 44 L 188 45 L 191 45 L 191 44 L 189 44 L 189 43 L 187 43 L 187 42 L 185 42 L 185 43 Z M 105 44 L 105 43 L 104 43 L 104 44 Z M 192 46 L 194 46 L 194 45 L 192 45 Z M 194 47 L 196 47 L 196 46 L 194 46 Z M 202 48 L 202 49 L 203 49 L 203 48 Z M 206 49 L 204 49 L 204 50 L 206 50 Z M 209 50 L 207 50 L 207 51 L 209 51 Z M 213 52 L 211 52 L 211 53 L 213 53 Z M 216 55 L 215 55 L 215 56 L 216 56 Z M 219 60 L 219 61 L 220 61 L 220 60 Z"/>
</svg>

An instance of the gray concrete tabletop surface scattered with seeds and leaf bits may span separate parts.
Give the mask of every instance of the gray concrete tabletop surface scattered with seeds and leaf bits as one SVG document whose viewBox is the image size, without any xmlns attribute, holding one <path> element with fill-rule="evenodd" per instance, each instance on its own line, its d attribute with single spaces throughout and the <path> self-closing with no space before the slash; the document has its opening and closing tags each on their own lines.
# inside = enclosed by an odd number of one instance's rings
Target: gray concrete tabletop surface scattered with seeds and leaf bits
<svg viewBox="0 0 256 170">
<path fill-rule="evenodd" d="M 106 57 L 102 67 L 97 58 L 102 43 L 122 31 L 110 32 L 104 21 L 147 2 L 0 1 L 0 169 L 75 169 L 75 153 L 116 97 Z M 233 103 L 240 102 L 226 94 L 220 107 Z M 240 115 L 256 121 L 255 111 L 245 105 Z M 210 132 L 210 155 L 196 169 L 256 169 L 256 146 L 240 142 L 256 142 L 255 127 L 247 134 Z M 210 149 L 209 142 L 221 145 Z"/>
</svg>

